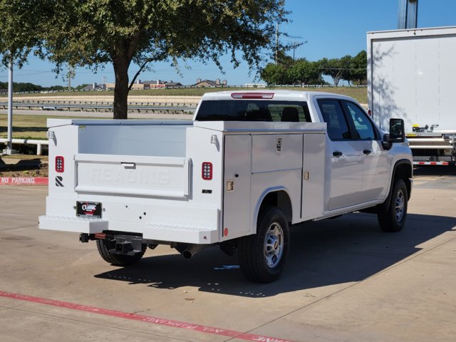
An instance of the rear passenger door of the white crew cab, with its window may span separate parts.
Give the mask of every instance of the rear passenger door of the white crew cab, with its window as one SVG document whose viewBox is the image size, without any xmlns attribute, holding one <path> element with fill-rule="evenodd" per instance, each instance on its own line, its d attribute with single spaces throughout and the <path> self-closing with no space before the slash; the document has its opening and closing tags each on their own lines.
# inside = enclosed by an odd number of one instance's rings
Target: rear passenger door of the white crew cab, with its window
<svg viewBox="0 0 456 342">
<path fill-rule="evenodd" d="M 350 125 L 338 99 L 319 98 L 317 103 L 327 125 L 327 145 L 331 160 L 327 209 L 339 209 L 361 203 L 363 143 L 353 140 Z"/>
</svg>

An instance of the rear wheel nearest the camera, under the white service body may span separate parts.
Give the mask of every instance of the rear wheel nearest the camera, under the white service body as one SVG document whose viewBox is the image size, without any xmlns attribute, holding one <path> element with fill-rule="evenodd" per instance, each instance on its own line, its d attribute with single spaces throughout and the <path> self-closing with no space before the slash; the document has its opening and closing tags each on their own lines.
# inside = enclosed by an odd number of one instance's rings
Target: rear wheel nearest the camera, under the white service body
<svg viewBox="0 0 456 342">
<path fill-rule="evenodd" d="M 238 259 L 242 275 L 258 283 L 270 283 L 279 278 L 289 249 L 289 227 L 283 212 L 277 207 L 261 209 L 257 234 L 239 241 Z"/>
</svg>

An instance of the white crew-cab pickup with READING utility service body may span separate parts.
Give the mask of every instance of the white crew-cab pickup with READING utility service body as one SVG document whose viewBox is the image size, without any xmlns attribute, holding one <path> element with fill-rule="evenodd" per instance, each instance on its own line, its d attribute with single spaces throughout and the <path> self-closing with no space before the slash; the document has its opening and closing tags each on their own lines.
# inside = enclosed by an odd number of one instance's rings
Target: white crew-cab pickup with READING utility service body
<svg viewBox="0 0 456 342">
<path fill-rule="evenodd" d="M 252 281 L 279 277 L 289 225 L 368 211 L 397 232 L 412 155 L 403 121 L 383 133 L 352 98 L 301 91 L 208 93 L 193 121 L 48 119 L 41 229 L 81 233 L 127 266 L 168 244 L 219 245 Z"/>
</svg>

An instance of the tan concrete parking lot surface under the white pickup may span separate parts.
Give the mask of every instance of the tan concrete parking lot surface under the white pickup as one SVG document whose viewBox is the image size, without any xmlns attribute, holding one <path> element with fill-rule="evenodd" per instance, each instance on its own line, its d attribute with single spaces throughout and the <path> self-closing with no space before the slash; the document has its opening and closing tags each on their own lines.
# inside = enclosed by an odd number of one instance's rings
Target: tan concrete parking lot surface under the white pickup
<svg viewBox="0 0 456 342">
<path fill-rule="evenodd" d="M 428 170 L 402 232 L 361 213 L 293 227 L 274 284 L 244 280 L 217 247 L 110 266 L 94 242 L 38 230 L 47 187 L 1 187 L 0 339 L 454 341 L 456 174 Z"/>
</svg>

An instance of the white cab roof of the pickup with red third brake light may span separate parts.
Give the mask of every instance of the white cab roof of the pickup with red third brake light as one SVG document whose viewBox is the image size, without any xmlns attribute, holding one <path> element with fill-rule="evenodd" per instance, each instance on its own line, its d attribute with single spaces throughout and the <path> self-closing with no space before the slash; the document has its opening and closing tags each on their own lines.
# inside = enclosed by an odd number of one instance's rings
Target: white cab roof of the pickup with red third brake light
<svg viewBox="0 0 456 342">
<path fill-rule="evenodd" d="M 261 96 L 263 95 L 263 96 Z M 247 99 L 247 98 L 257 98 L 258 100 L 310 100 L 314 96 L 327 96 L 327 97 L 338 97 L 338 98 L 350 98 L 346 95 L 341 95 L 337 93 L 325 93 L 321 91 L 300 91 L 300 90 L 225 90 L 225 91 L 216 91 L 213 93 L 205 93 L 202 96 L 202 100 L 232 100 L 232 99 Z"/>
</svg>

